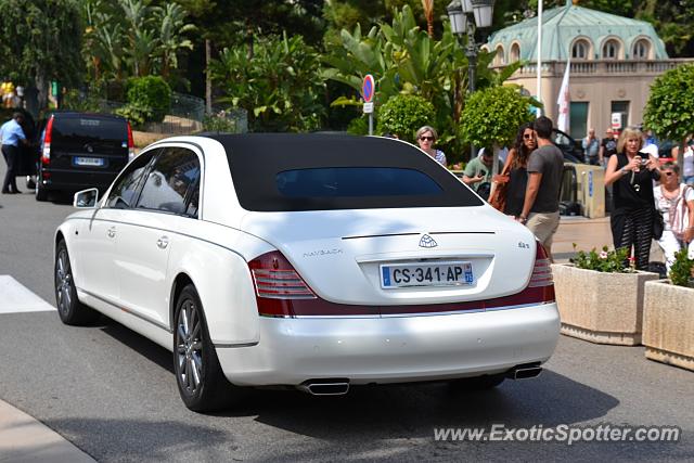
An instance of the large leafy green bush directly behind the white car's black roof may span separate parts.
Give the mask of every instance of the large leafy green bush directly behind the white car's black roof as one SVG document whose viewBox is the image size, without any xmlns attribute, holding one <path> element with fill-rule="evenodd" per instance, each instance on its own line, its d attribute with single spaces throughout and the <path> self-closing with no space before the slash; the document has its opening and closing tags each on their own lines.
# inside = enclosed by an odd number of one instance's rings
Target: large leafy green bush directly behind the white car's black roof
<svg viewBox="0 0 694 463">
<path fill-rule="evenodd" d="M 300 36 L 260 38 L 249 57 L 243 47 L 224 49 L 210 65 L 221 102 L 248 113 L 252 131 L 310 131 L 325 115 L 325 81 L 319 54 Z"/>
</svg>

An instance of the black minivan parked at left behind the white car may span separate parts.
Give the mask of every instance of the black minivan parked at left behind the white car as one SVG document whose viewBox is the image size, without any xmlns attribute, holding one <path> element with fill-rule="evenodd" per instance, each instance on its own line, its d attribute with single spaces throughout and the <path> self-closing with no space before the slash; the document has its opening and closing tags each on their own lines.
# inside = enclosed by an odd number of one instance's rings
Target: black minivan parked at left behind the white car
<svg viewBox="0 0 694 463">
<path fill-rule="evenodd" d="M 106 190 L 134 157 L 130 123 L 120 116 L 54 112 L 38 129 L 37 201 L 51 191 Z"/>
</svg>

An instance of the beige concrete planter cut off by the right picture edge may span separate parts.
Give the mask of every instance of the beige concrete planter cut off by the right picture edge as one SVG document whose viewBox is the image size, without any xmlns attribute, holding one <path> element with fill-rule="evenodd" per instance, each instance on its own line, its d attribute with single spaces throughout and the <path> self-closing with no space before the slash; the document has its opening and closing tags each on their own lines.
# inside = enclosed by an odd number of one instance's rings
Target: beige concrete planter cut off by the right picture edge
<svg viewBox="0 0 694 463">
<path fill-rule="evenodd" d="M 694 371 L 694 288 L 646 283 L 643 345 L 646 358 Z"/>
</svg>

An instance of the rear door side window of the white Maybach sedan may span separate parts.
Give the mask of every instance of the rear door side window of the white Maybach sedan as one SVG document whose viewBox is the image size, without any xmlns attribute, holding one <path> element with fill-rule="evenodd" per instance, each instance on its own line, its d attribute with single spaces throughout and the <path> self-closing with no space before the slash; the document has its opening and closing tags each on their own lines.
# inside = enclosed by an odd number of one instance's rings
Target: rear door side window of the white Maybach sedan
<svg viewBox="0 0 694 463">
<path fill-rule="evenodd" d="M 198 179 L 200 160 L 195 153 L 184 147 L 165 147 L 147 172 L 137 207 L 188 214 L 185 198 Z"/>
</svg>

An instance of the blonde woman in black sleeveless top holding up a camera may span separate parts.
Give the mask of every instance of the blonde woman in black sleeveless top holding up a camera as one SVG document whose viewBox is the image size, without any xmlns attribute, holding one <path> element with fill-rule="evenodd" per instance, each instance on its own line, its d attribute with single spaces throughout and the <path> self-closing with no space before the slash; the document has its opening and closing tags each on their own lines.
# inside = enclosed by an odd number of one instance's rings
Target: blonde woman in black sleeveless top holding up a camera
<svg viewBox="0 0 694 463">
<path fill-rule="evenodd" d="M 653 240 L 653 180 L 660 178 L 658 159 L 641 152 L 643 136 L 627 128 L 617 142 L 617 154 L 609 156 L 605 184 L 613 184 L 614 209 L 611 216 L 615 249 L 634 248 L 637 269 L 648 267 Z"/>
</svg>

